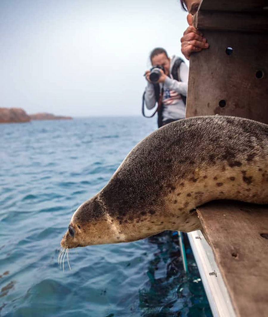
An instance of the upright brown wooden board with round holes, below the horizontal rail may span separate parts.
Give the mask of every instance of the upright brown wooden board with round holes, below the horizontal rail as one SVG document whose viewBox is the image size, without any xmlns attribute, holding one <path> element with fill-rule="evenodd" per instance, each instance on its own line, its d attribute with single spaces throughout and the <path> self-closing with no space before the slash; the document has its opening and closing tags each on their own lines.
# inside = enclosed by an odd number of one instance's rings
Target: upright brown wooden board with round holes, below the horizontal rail
<svg viewBox="0 0 268 317">
<path fill-rule="evenodd" d="M 203 34 L 210 47 L 191 55 L 186 117 L 221 114 L 268 124 L 268 36 Z"/>
</svg>

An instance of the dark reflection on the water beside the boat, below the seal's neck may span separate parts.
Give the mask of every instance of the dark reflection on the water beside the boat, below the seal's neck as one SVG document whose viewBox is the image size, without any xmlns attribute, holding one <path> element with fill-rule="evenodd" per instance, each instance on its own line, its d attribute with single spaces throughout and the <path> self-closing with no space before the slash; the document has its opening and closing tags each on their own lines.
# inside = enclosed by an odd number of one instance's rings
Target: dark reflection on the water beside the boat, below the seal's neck
<svg viewBox="0 0 268 317">
<path fill-rule="evenodd" d="M 200 292 L 204 292 L 203 285 L 186 234 L 184 241 L 187 274 L 183 268 L 177 232 L 164 231 L 148 238 L 148 242 L 156 244 L 158 249 L 149 262 L 149 280 L 139 291 L 143 317 L 212 316 L 206 297 L 200 296 Z"/>
</svg>

